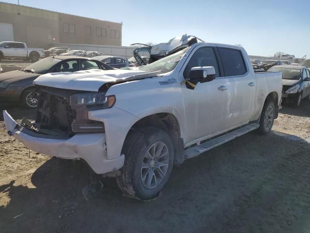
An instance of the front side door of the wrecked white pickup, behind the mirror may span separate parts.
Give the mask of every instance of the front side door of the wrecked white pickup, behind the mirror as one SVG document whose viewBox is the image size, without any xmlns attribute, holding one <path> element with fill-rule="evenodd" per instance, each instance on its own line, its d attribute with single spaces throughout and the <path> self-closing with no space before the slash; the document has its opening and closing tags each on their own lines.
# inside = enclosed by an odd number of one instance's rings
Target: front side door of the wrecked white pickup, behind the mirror
<svg viewBox="0 0 310 233">
<path fill-rule="evenodd" d="M 227 128 L 229 119 L 230 82 L 221 77 L 217 49 L 200 47 L 191 54 L 186 67 L 179 74 L 182 79 L 189 77 L 192 67 L 214 67 L 217 78 L 211 82 L 197 83 L 194 89 L 182 88 L 188 135 L 185 143 L 218 134 Z"/>
</svg>

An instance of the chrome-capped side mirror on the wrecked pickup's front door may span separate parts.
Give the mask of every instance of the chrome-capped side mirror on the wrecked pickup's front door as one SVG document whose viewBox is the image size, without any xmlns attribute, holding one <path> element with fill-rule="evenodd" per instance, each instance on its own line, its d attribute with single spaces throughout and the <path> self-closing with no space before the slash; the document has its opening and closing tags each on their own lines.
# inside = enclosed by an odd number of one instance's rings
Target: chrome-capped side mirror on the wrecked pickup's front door
<svg viewBox="0 0 310 233">
<path fill-rule="evenodd" d="M 189 81 L 191 83 L 211 82 L 216 78 L 214 67 L 192 67 L 189 73 Z"/>
</svg>

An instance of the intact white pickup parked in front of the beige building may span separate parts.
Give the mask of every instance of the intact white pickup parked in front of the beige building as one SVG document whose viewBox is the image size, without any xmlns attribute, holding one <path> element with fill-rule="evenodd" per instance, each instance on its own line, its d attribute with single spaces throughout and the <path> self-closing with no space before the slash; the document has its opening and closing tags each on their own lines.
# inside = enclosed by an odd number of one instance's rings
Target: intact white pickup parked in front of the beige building
<svg viewBox="0 0 310 233">
<path fill-rule="evenodd" d="M 32 62 L 37 62 L 40 57 L 44 57 L 43 49 L 27 48 L 23 42 L 0 42 L 0 60 L 4 58 L 26 58 Z"/>
</svg>

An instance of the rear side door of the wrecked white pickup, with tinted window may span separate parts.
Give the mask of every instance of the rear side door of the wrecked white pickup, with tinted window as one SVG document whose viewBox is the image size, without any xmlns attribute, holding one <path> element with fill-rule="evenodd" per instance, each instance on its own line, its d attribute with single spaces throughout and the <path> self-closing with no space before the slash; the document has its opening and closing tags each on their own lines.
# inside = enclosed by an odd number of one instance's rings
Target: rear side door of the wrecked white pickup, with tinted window
<svg viewBox="0 0 310 233">
<path fill-rule="evenodd" d="M 227 128 L 246 124 L 255 111 L 256 78 L 249 67 L 241 50 L 218 47 L 218 52 L 224 69 L 224 77 L 228 82 Z"/>
</svg>

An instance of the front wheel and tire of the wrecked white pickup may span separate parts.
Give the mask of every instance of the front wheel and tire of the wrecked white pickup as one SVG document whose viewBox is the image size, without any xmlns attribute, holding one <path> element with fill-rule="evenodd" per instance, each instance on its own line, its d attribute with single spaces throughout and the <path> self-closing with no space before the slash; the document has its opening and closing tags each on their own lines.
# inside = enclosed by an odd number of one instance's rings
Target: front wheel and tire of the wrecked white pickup
<svg viewBox="0 0 310 233">
<path fill-rule="evenodd" d="M 171 174 L 173 151 L 171 137 L 163 130 L 146 127 L 132 133 L 124 143 L 125 162 L 116 178 L 120 189 L 141 200 L 158 197 Z"/>
</svg>

